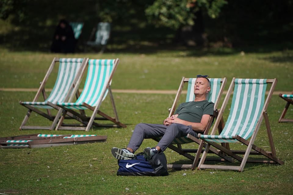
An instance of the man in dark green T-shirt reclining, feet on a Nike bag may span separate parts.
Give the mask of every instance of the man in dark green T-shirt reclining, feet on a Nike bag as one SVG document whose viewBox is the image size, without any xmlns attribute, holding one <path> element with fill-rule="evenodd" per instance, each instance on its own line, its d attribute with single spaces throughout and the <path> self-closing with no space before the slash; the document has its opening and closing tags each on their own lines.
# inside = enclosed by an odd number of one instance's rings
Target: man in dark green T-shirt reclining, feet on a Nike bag
<svg viewBox="0 0 293 195">
<path fill-rule="evenodd" d="M 144 157 L 149 161 L 154 154 L 165 151 L 175 138 L 187 134 L 197 137 L 197 133 L 205 130 L 210 116 L 214 114 L 214 103 L 206 100 L 206 95 L 211 90 L 210 86 L 207 76 L 198 76 L 194 85 L 194 101 L 181 103 L 174 115 L 163 121 L 163 125 L 137 124 L 127 148 L 113 147 L 113 156 L 118 160 L 136 158 L 133 153 L 140 147 L 143 139 L 162 137 L 156 147 L 147 147 L 143 150 Z"/>
</svg>

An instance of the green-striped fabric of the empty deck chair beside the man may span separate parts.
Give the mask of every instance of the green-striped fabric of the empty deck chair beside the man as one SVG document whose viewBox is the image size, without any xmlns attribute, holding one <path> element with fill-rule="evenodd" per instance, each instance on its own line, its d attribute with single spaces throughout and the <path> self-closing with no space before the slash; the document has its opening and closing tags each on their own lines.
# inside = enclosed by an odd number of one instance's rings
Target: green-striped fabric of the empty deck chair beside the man
<svg viewBox="0 0 293 195">
<path fill-rule="evenodd" d="M 211 142 L 238 142 L 232 136 L 244 139 L 255 130 L 265 101 L 266 79 L 236 79 L 233 99 L 226 125 L 220 135 L 201 135 L 202 140 Z"/>
</svg>

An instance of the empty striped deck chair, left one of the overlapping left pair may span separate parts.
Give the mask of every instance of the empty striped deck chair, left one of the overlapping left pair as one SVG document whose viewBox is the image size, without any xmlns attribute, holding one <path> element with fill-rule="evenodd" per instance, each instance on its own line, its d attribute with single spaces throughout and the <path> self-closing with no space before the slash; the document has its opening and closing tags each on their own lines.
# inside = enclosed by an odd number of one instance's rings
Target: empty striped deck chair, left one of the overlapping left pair
<svg viewBox="0 0 293 195">
<path fill-rule="evenodd" d="M 51 111 L 49 109 L 55 108 L 59 110 L 59 107 L 55 106 L 54 104 L 58 101 L 67 101 L 68 98 L 71 96 L 71 92 L 73 89 L 73 86 L 77 85 L 78 77 L 81 76 L 81 69 L 85 66 L 88 59 L 86 58 L 54 58 L 42 83 L 39 87 L 37 94 L 35 95 L 33 101 L 20 101 L 20 105 L 23 105 L 27 107 L 29 110 L 27 111 L 27 114 L 24 117 L 24 120 L 20 126 L 21 129 L 53 129 L 55 126 L 25 126 L 29 116 L 31 115 L 31 112 L 34 111 L 37 114 L 49 119 L 50 121 L 54 121 L 59 119 L 60 116 L 53 116 L 51 114 Z M 45 84 L 56 65 L 56 62 L 59 62 L 59 71 L 58 76 L 55 82 L 55 85 L 47 98 L 46 92 L 45 92 Z M 43 94 L 44 101 L 39 102 L 38 98 Z M 49 105 L 49 103 L 52 103 Z M 43 112 L 39 108 L 45 108 L 47 109 L 47 113 Z M 56 124 L 55 124 L 56 125 Z"/>
</svg>

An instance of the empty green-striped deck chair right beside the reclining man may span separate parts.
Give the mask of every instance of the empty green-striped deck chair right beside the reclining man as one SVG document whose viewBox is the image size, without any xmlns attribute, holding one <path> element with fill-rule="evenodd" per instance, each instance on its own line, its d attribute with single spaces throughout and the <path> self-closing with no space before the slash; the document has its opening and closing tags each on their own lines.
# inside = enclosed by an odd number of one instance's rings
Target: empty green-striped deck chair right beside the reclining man
<svg viewBox="0 0 293 195">
<path fill-rule="evenodd" d="M 265 100 L 265 92 L 267 83 L 272 83 L 269 94 Z M 243 171 L 246 162 L 260 162 L 260 163 L 278 163 L 283 164 L 284 162 L 276 158 L 276 150 L 273 144 L 273 137 L 269 126 L 269 118 L 267 114 L 267 107 L 269 100 L 273 94 L 273 90 L 277 84 L 277 79 L 235 79 L 233 78 L 225 100 L 222 104 L 221 112 L 215 121 L 215 125 L 212 129 L 211 135 L 201 135 L 198 137 L 205 142 L 205 147 L 202 158 L 199 162 L 197 169 L 211 168 L 211 169 L 229 169 Z M 233 92 L 232 104 L 230 114 L 224 126 L 224 129 L 219 135 L 215 135 L 215 130 L 219 125 L 219 122 L 225 111 L 226 105 Z M 262 150 L 254 144 L 255 138 L 259 131 L 262 119 L 265 119 L 267 134 L 269 137 L 269 144 L 271 152 Z M 250 140 L 248 140 L 250 138 Z M 246 151 L 230 150 L 230 148 L 224 148 L 217 143 L 235 143 L 241 142 L 246 145 Z M 241 162 L 240 166 L 230 165 L 205 165 L 204 160 L 207 155 L 209 148 L 215 147 L 227 155 L 235 158 Z M 255 151 L 251 151 L 251 149 Z M 237 154 L 244 154 L 244 157 Z M 264 155 L 269 160 L 253 160 L 248 159 L 249 155 Z"/>
</svg>

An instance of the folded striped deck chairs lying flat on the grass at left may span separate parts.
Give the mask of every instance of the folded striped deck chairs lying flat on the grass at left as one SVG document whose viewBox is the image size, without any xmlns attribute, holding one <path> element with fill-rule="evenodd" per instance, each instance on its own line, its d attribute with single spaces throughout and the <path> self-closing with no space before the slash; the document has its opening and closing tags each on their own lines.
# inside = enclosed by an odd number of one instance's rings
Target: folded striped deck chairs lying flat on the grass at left
<svg viewBox="0 0 293 195">
<path fill-rule="evenodd" d="M 0 137 L 0 148 L 36 148 L 103 142 L 107 136 L 31 134 Z"/>
</svg>

